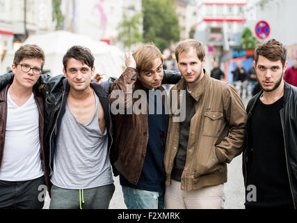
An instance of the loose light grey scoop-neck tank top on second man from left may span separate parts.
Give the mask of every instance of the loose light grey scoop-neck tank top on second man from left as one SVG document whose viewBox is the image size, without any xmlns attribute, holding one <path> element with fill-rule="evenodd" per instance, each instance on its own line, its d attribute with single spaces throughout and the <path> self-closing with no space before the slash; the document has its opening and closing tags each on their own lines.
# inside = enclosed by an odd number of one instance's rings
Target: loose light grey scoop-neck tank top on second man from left
<svg viewBox="0 0 297 223">
<path fill-rule="evenodd" d="M 88 123 L 79 123 L 68 102 L 56 140 L 51 183 L 65 189 L 89 189 L 113 183 L 107 130 L 99 128 L 99 98 Z"/>
</svg>

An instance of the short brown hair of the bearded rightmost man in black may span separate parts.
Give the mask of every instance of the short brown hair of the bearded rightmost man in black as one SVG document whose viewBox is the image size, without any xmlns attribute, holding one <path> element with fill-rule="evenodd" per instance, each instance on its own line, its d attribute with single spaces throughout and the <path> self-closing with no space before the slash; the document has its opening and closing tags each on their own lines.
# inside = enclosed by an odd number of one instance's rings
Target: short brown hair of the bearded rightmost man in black
<svg viewBox="0 0 297 223">
<path fill-rule="evenodd" d="M 286 63 L 287 59 L 287 49 L 280 43 L 278 40 L 271 39 L 265 40 L 262 43 L 259 43 L 255 49 L 255 63 L 259 59 L 259 56 L 264 56 L 270 61 L 282 62 L 282 66 Z"/>
</svg>

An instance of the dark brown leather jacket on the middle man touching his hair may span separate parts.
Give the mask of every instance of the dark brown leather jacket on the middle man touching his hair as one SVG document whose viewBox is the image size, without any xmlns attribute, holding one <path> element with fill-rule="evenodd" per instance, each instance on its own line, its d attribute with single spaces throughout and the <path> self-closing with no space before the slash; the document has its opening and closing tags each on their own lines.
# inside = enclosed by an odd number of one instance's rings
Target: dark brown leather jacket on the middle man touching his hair
<svg viewBox="0 0 297 223">
<path fill-rule="evenodd" d="M 127 91 L 128 86 L 131 86 L 131 89 Z M 136 185 L 143 169 L 147 151 L 147 140 L 149 137 L 148 115 L 127 112 L 129 108 L 133 107 L 133 105 L 135 105 L 134 103 L 139 100 L 138 98 L 133 98 L 132 101 L 129 100 L 129 92 L 134 93 L 137 90 L 145 90 L 138 79 L 136 69 L 127 68 L 125 72 L 113 82 L 111 94 L 109 95 L 111 113 L 113 113 L 113 102 L 118 100 L 118 98 L 115 98 L 117 90 L 125 94 L 125 100 L 122 101 L 122 106 L 125 107 L 125 114 L 115 115 L 115 153 L 118 154 L 118 159 L 115 161 L 114 166 L 130 183 Z M 166 93 L 165 89 L 162 87 L 160 87 L 159 90 L 162 91 L 162 93 Z M 145 101 L 147 100 L 146 96 L 144 99 Z M 166 106 L 165 97 L 162 97 L 162 102 L 163 106 Z M 145 109 L 148 113 L 148 106 Z M 168 116 L 166 116 L 166 123 L 168 123 Z M 163 148 L 165 149 L 165 144 Z"/>
</svg>

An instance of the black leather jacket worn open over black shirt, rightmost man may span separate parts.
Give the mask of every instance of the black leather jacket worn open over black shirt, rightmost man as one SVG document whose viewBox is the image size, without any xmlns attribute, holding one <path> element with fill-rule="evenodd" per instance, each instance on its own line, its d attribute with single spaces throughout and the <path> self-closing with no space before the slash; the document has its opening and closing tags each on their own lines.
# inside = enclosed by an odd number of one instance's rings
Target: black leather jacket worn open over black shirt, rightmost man
<svg viewBox="0 0 297 223">
<path fill-rule="evenodd" d="M 261 97 L 263 91 L 257 93 L 246 109 L 248 118 L 246 121 L 246 134 L 243 144 L 243 178 L 246 185 L 247 171 L 250 167 L 250 116 L 252 116 L 256 101 Z M 297 203 L 297 88 L 284 82 L 284 105 L 280 109 L 282 132 L 284 134 L 284 152 L 287 161 L 287 174 L 294 208 Z"/>
</svg>

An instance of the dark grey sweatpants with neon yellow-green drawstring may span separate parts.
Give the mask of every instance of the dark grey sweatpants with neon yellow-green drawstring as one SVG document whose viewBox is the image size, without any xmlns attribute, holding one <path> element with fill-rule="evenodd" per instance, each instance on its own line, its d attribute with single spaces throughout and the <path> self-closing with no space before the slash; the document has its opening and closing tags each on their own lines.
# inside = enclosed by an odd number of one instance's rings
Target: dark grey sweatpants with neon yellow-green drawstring
<svg viewBox="0 0 297 223">
<path fill-rule="evenodd" d="M 115 185 L 85 190 L 63 189 L 52 185 L 49 209 L 108 209 Z"/>
</svg>

